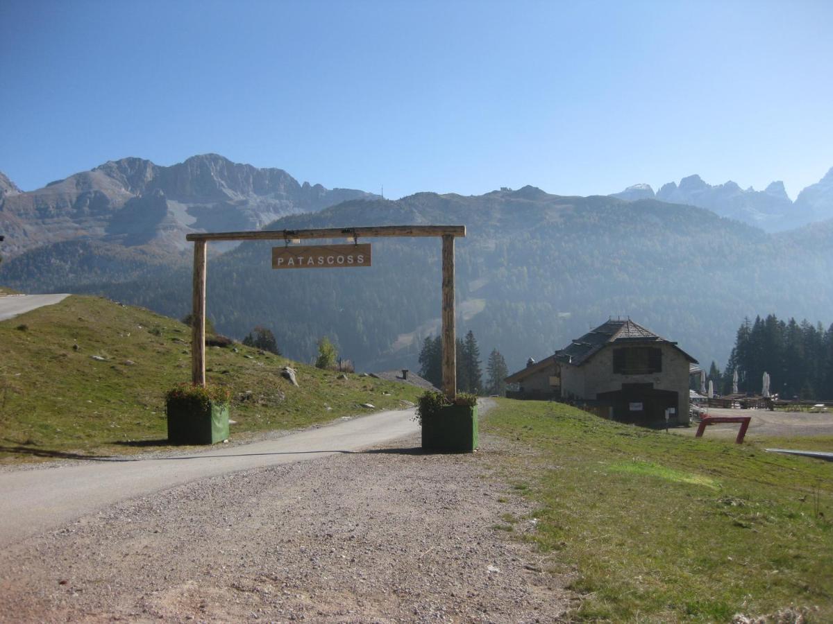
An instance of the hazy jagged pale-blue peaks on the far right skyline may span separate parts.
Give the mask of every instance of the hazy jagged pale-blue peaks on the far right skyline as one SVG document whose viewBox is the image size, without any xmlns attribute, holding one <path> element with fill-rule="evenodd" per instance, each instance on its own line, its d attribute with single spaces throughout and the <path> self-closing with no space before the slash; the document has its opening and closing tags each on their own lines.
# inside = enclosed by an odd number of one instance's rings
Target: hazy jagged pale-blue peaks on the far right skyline
<svg viewBox="0 0 833 624">
<path fill-rule="evenodd" d="M 796 201 L 787 196 L 781 181 L 756 191 L 752 187 L 742 189 L 733 181 L 711 186 L 697 175 L 683 178 L 679 185 L 668 182 L 656 194 L 650 185 L 636 184 L 613 196 L 627 201 L 656 198 L 698 206 L 768 232 L 779 232 L 833 218 L 833 169 L 821 181 L 801 191 Z"/>
</svg>

